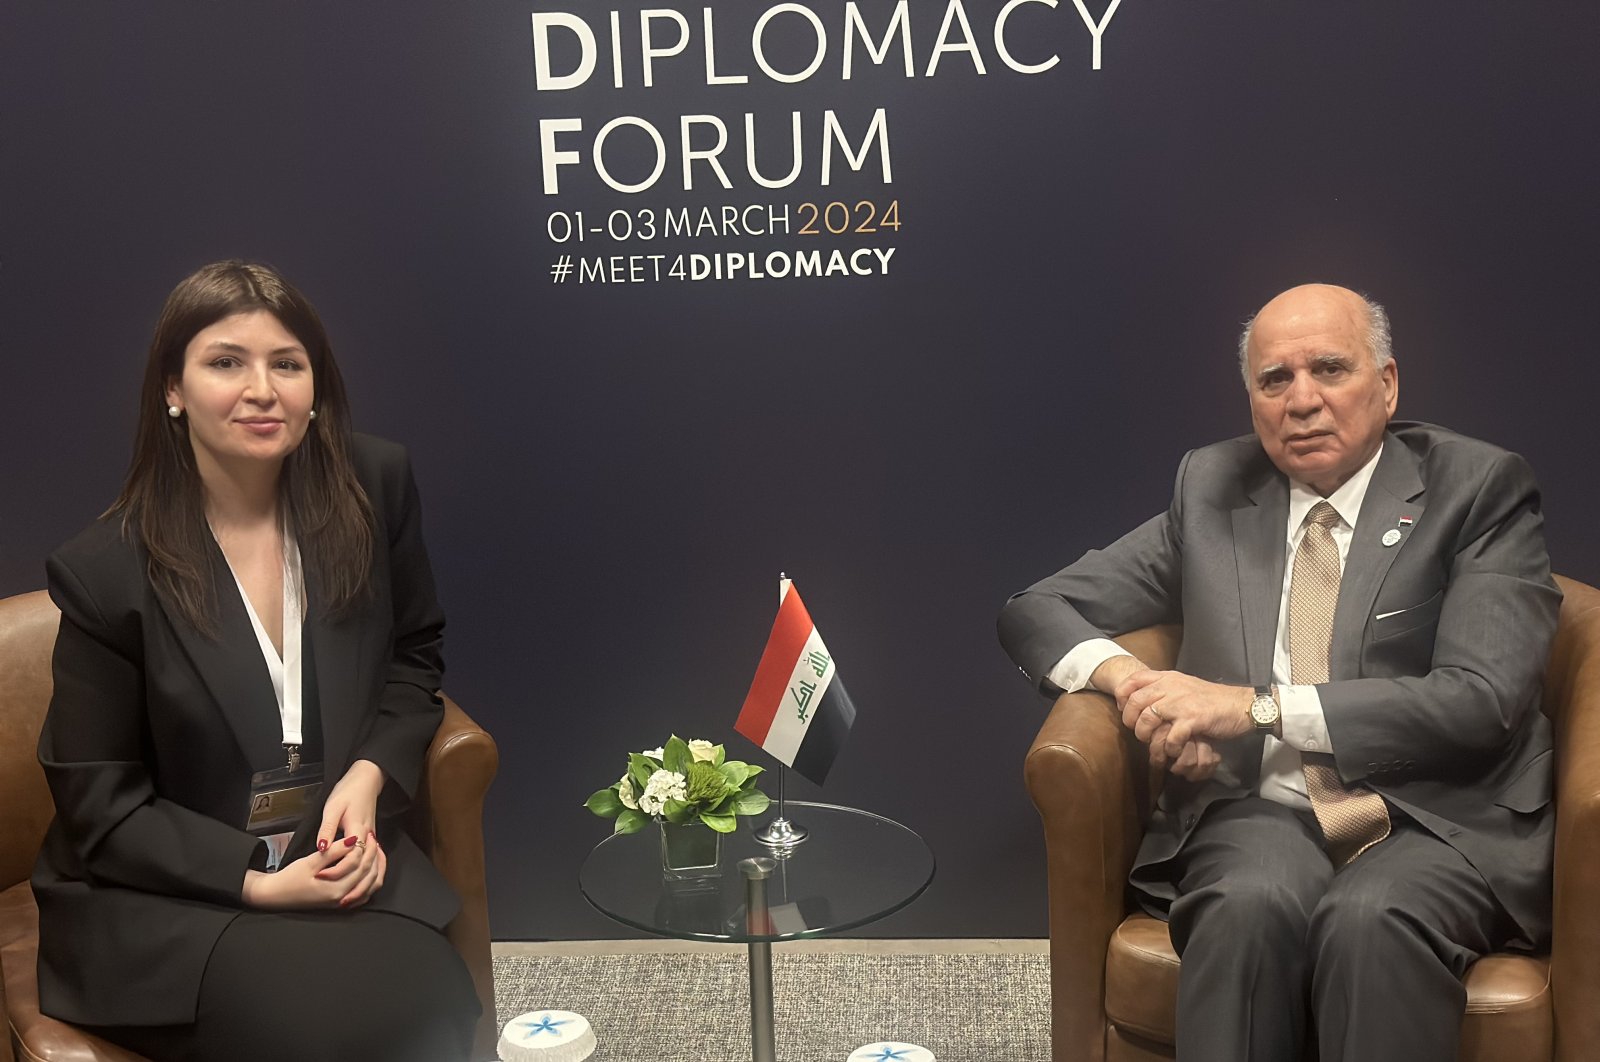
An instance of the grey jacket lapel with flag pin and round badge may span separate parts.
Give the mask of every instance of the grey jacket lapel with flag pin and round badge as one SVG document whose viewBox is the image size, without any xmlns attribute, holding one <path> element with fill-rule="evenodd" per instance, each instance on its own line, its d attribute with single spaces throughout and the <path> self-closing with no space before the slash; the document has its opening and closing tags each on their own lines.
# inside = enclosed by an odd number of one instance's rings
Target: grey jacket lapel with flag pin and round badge
<svg viewBox="0 0 1600 1062">
<path fill-rule="evenodd" d="M 1328 656 L 1328 677 L 1333 680 L 1360 675 L 1362 635 L 1371 619 L 1378 589 L 1411 541 L 1408 533 L 1402 533 L 1395 545 L 1384 545 L 1384 533 L 1398 529 L 1400 517 L 1421 517 L 1427 507 L 1422 493 L 1416 454 L 1394 435 L 1387 435 L 1384 454 L 1373 469 L 1373 481 L 1362 501 L 1350 552 L 1344 558 L 1339 605 L 1333 613 L 1333 649 Z"/>
</svg>

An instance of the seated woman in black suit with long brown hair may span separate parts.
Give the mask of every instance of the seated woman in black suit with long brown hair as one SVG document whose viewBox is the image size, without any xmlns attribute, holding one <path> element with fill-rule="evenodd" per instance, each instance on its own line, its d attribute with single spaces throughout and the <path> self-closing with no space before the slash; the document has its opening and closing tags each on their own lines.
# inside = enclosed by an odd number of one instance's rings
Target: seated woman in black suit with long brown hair
<svg viewBox="0 0 1600 1062">
<path fill-rule="evenodd" d="M 43 1011 L 157 1062 L 464 1059 L 458 900 L 397 819 L 442 713 L 416 486 L 280 275 L 178 285 L 122 494 L 48 577 Z"/>
</svg>

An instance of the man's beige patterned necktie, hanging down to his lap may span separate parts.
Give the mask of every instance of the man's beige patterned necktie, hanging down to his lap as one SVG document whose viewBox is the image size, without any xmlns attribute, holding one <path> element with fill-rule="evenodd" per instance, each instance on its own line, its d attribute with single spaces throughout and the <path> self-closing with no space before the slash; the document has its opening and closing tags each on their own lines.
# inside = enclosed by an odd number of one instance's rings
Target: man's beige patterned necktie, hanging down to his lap
<svg viewBox="0 0 1600 1062">
<path fill-rule="evenodd" d="M 1333 645 L 1333 609 L 1339 601 L 1339 545 L 1330 528 L 1339 513 L 1328 502 L 1317 502 L 1306 513 L 1306 534 L 1294 552 L 1290 577 L 1290 681 L 1328 681 L 1328 649 Z M 1333 757 L 1301 753 L 1306 768 L 1306 795 L 1328 841 L 1336 867 L 1350 862 L 1389 836 L 1389 808 L 1365 785 L 1346 787 Z"/>
</svg>

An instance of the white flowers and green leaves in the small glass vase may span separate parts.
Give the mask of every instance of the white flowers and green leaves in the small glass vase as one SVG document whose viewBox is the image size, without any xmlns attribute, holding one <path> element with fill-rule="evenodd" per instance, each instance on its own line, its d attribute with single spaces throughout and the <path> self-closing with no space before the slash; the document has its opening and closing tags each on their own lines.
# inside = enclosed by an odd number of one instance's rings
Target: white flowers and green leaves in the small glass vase
<svg viewBox="0 0 1600 1062">
<path fill-rule="evenodd" d="M 674 734 L 661 749 L 630 752 L 627 773 L 584 808 L 616 819 L 616 833 L 642 830 L 651 819 L 678 825 L 699 819 L 718 833 L 733 833 L 736 816 L 762 814 L 771 803 L 755 789 L 763 769 L 730 760 L 722 745 Z"/>
</svg>

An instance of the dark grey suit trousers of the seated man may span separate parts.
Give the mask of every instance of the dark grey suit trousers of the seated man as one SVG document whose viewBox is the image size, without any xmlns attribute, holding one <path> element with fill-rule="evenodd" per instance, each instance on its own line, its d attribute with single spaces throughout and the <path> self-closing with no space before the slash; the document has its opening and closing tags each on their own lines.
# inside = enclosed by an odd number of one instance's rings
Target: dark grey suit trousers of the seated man
<svg viewBox="0 0 1600 1062">
<path fill-rule="evenodd" d="M 1454 1062 L 1461 976 L 1509 934 L 1482 875 L 1395 816 L 1334 868 L 1310 811 L 1213 804 L 1174 860 L 1179 1062 Z M 1307 1012 L 1309 1008 L 1309 1012 Z"/>
</svg>

